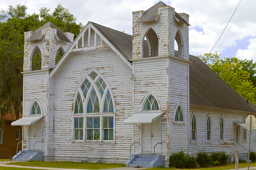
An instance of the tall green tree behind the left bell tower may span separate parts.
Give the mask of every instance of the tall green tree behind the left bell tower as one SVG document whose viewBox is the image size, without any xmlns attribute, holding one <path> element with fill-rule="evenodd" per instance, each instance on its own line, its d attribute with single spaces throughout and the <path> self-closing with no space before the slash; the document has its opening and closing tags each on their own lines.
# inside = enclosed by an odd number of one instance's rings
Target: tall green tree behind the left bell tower
<svg viewBox="0 0 256 170">
<path fill-rule="evenodd" d="M 17 118 L 22 112 L 24 32 L 35 31 L 50 21 L 62 31 L 73 33 L 76 38 L 83 28 L 81 23 L 76 24 L 76 17 L 60 4 L 52 14 L 49 8 L 44 7 L 39 10 L 40 14 L 29 15 L 26 10 L 25 5 L 16 5 L 0 11 L 0 120 L 8 112 L 14 111 Z M 41 67 L 38 56 L 35 54 L 33 58 L 33 62 L 38 63 L 34 70 Z"/>
</svg>

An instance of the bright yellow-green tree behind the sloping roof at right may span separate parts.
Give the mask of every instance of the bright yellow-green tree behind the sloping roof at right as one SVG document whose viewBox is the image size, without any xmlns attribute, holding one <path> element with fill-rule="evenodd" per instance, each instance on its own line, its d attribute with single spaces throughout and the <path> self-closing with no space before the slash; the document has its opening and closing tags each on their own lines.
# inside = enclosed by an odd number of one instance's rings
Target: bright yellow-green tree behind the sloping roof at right
<svg viewBox="0 0 256 170">
<path fill-rule="evenodd" d="M 217 52 L 198 57 L 238 94 L 256 105 L 256 87 L 249 80 L 250 73 L 245 69 L 251 67 L 245 67 L 244 61 L 235 57 L 221 58 Z"/>
</svg>

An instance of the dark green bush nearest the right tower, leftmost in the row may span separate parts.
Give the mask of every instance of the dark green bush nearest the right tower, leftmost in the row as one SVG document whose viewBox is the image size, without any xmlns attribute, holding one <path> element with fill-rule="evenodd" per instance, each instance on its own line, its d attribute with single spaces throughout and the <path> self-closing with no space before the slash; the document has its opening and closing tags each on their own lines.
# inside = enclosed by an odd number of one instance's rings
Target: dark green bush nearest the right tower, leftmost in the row
<svg viewBox="0 0 256 170">
<path fill-rule="evenodd" d="M 196 157 L 190 156 L 184 153 L 184 151 L 179 151 L 169 156 L 169 167 L 196 168 L 197 160 Z"/>
</svg>

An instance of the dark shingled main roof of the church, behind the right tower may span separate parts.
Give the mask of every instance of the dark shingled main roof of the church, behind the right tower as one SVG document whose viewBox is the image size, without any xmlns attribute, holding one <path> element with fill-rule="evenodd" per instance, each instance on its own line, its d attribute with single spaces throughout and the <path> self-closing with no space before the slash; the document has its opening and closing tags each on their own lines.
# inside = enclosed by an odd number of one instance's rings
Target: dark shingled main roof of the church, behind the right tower
<svg viewBox="0 0 256 170">
<path fill-rule="evenodd" d="M 131 35 L 92 24 L 128 61 L 132 59 Z M 175 55 L 178 56 L 177 51 Z M 246 99 L 236 93 L 198 57 L 190 55 L 190 61 L 190 104 L 256 112 L 256 106 L 250 102 L 246 103 Z"/>
</svg>

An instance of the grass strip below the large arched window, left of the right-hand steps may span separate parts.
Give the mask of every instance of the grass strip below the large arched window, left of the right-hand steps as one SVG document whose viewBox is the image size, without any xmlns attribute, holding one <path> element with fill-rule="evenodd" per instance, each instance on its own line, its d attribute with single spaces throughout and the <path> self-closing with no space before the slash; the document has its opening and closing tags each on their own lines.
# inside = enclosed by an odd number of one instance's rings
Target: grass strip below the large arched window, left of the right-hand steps
<svg viewBox="0 0 256 170">
<path fill-rule="evenodd" d="M 93 162 L 71 162 L 71 161 L 35 161 L 30 160 L 27 162 L 12 162 L 8 164 L 21 165 L 21 166 L 41 166 L 41 167 L 60 167 L 60 168 L 78 168 L 78 169 L 105 169 L 124 167 L 125 164 L 121 163 L 93 163 Z"/>
</svg>

